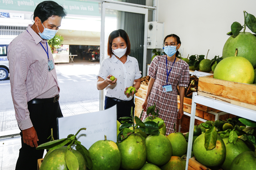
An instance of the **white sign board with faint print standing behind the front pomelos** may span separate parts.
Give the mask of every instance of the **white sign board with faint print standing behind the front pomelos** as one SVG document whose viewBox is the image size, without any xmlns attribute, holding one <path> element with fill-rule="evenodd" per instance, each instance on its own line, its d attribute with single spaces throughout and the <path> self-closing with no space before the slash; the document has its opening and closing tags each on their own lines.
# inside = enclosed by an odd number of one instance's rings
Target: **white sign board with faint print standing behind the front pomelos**
<svg viewBox="0 0 256 170">
<path fill-rule="evenodd" d="M 87 149 L 98 140 L 104 140 L 104 135 L 107 136 L 107 140 L 116 142 L 116 120 L 116 105 L 99 112 L 58 118 L 59 139 L 67 138 L 69 134 L 76 134 L 80 128 L 86 128 L 81 130 L 76 138 Z M 80 136 L 80 134 L 86 135 Z"/>
</svg>

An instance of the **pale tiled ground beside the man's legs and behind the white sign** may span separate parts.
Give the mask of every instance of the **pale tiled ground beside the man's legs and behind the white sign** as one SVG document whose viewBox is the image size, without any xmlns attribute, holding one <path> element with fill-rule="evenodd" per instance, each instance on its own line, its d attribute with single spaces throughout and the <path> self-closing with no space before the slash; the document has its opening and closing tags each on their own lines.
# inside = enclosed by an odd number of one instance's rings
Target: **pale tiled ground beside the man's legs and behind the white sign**
<svg viewBox="0 0 256 170">
<path fill-rule="evenodd" d="M 64 103 L 60 106 L 66 117 L 99 111 L 99 100 Z M 0 136 L 20 133 L 14 114 L 14 109 L 0 111 Z M 15 170 L 20 147 L 20 136 L 0 139 L 0 170 Z"/>
</svg>

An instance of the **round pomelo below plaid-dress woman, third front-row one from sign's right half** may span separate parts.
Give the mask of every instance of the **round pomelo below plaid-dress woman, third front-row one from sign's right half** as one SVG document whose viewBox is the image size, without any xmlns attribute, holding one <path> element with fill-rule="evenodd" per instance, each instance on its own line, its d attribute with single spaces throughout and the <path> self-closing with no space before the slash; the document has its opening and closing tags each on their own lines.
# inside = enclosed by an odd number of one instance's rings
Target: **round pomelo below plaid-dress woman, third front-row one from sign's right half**
<svg viewBox="0 0 256 170">
<path fill-rule="evenodd" d="M 163 135 L 149 135 L 146 138 L 147 159 L 148 163 L 157 166 L 166 164 L 172 156 L 172 145 L 169 139 Z"/>
</svg>

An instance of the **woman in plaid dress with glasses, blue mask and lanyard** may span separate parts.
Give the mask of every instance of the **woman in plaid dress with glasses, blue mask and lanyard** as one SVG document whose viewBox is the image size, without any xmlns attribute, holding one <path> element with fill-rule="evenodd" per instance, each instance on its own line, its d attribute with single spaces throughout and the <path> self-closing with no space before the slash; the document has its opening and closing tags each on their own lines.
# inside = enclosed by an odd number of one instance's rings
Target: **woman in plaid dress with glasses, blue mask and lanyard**
<svg viewBox="0 0 256 170">
<path fill-rule="evenodd" d="M 147 116 L 146 109 L 155 103 L 159 110 L 159 118 L 165 121 L 166 135 L 168 135 L 174 133 L 173 126 L 177 122 L 177 118 L 181 119 L 183 116 L 184 91 L 189 84 L 189 65 L 177 58 L 179 54 L 177 50 L 181 45 L 180 37 L 175 34 L 168 35 L 165 37 L 163 45 L 167 55 L 155 56 L 149 67 L 150 80 L 146 98 L 142 104 L 144 109 L 142 120 Z M 179 110 L 177 107 L 177 85 L 180 87 Z"/>
</svg>

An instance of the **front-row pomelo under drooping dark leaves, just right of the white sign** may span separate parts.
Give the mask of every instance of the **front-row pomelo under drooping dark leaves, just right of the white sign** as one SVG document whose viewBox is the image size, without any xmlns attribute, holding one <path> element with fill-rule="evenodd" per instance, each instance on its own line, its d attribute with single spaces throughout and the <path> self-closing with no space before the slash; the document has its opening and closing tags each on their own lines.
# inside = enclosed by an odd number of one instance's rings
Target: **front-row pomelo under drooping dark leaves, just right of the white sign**
<svg viewBox="0 0 256 170">
<path fill-rule="evenodd" d="M 117 144 L 121 152 L 121 169 L 140 169 L 146 162 L 145 140 L 139 134 L 132 133 L 122 142 Z"/>
</svg>

